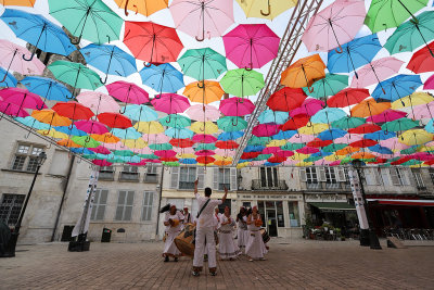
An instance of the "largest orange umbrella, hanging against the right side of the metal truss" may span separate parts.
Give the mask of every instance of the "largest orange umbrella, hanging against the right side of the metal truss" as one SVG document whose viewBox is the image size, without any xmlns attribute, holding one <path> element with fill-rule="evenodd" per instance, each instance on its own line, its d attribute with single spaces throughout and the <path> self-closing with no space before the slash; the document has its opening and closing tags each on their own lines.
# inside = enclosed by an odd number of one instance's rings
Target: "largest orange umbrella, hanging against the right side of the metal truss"
<svg viewBox="0 0 434 290">
<path fill-rule="evenodd" d="M 310 86 L 314 81 L 326 77 L 324 68 L 326 64 L 319 54 L 299 59 L 282 73 L 280 84 L 290 88 L 308 87 L 312 92 L 314 88 Z"/>
</svg>

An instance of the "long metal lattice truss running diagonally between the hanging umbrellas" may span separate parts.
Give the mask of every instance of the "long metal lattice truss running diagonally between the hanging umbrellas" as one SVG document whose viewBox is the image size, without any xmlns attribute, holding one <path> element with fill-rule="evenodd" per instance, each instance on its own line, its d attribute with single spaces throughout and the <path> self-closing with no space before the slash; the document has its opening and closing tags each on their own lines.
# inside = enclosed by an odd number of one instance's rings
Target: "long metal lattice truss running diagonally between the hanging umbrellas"
<svg viewBox="0 0 434 290">
<path fill-rule="evenodd" d="M 247 128 L 241 139 L 240 147 L 233 159 L 232 165 L 235 166 L 243 154 L 252 137 L 252 129 L 258 124 L 257 117 L 266 109 L 266 103 L 270 96 L 281 88 L 280 75 L 293 62 L 295 54 L 302 45 L 302 36 L 306 29 L 309 18 L 320 9 L 323 0 L 298 0 L 288 23 L 286 30 L 283 34 L 278 56 L 272 61 L 270 71 L 265 79 L 265 87 L 259 91 L 256 101 L 256 109 L 248 119 Z"/>
</svg>

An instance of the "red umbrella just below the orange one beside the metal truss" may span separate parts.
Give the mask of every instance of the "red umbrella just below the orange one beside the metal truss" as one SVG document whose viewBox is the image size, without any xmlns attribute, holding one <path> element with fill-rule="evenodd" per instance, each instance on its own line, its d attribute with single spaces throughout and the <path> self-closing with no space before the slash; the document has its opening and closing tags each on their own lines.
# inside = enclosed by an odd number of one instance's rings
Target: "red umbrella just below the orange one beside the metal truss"
<svg viewBox="0 0 434 290">
<path fill-rule="evenodd" d="M 290 112 L 303 104 L 307 98 L 301 88 L 283 88 L 270 96 L 267 105 L 272 111 Z"/>
</svg>

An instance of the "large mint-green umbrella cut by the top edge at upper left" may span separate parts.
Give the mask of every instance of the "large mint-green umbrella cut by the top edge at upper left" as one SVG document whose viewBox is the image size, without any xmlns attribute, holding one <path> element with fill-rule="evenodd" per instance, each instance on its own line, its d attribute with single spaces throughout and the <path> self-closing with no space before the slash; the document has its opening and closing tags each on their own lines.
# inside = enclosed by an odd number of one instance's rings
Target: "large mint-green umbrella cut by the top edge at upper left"
<svg viewBox="0 0 434 290">
<path fill-rule="evenodd" d="M 119 39 L 124 20 L 101 0 L 49 0 L 50 14 L 69 33 L 97 45 Z"/>
</svg>

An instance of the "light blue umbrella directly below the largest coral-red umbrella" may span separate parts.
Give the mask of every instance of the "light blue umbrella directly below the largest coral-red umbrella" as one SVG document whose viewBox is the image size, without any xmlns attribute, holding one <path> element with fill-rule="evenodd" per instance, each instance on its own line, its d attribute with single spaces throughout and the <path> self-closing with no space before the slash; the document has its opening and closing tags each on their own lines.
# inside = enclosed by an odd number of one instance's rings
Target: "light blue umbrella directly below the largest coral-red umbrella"
<svg viewBox="0 0 434 290">
<path fill-rule="evenodd" d="M 169 63 L 151 64 L 150 67 L 143 67 L 139 73 L 143 85 L 159 91 L 159 93 L 177 92 L 186 86 L 183 75 Z"/>
</svg>

